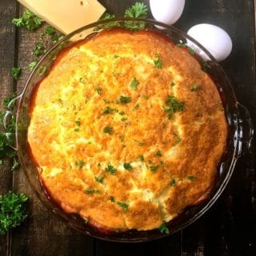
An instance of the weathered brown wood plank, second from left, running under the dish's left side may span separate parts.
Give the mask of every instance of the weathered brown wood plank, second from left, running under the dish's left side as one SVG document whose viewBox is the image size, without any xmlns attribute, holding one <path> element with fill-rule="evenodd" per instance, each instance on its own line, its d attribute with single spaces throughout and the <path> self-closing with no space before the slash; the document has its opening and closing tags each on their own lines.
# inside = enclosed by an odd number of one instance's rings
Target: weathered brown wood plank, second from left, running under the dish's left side
<svg viewBox="0 0 256 256">
<path fill-rule="evenodd" d="M 23 8 L 21 7 L 20 14 Z M 30 74 L 28 64 L 34 61 L 32 49 L 39 42 L 45 26 L 36 31 L 20 29 L 18 34 L 18 66 L 22 76 L 18 80 L 18 94 Z M 14 173 L 14 190 L 22 191 L 30 199 L 30 216 L 18 229 L 13 230 L 11 255 L 92 255 L 94 239 L 72 230 L 54 214 L 46 210 L 29 186 L 22 170 Z M 86 253 L 85 253 L 86 252 Z"/>
</svg>

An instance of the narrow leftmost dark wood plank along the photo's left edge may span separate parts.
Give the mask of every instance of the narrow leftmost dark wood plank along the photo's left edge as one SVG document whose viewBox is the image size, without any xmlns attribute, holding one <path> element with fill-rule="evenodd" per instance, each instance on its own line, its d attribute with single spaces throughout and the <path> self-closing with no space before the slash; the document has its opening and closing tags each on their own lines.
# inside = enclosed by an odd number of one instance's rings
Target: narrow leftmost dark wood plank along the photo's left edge
<svg viewBox="0 0 256 256">
<path fill-rule="evenodd" d="M 14 79 L 11 68 L 15 60 L 15 27 L 11 20 L 15 16 L 16 5 L 14 0 L 2 0 L 0 4 L 0 102 L 14 91 Z M 2 104 L 1 104 L 2 109 Z M 2 129 L 2 128 L 1 128 Z M 11 189 L 12 173 L 10 162 L 0 166 L 0 194 L 6 194 Z M 10 234 L 0 236 L 0 255 L 6 255 L 10 245 Z"/>
</svg>

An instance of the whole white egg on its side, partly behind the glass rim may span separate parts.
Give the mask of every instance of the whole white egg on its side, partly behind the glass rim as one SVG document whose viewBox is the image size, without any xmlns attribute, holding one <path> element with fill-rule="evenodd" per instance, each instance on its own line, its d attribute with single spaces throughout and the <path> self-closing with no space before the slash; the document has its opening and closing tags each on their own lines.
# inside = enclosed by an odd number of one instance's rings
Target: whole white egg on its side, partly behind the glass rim
<svg viewBox="0 0 256 256">
<path fill-rule="evenodd" d="M 230 55 L 232 50 L 231 38 L 229 34 L 219 26 L 206 23 L 198 24 L 192 26 L 190 30 L 187 31 L 187 34 L 202 44 L 218 62 L 221 62 Z M 186 45 L 192 48 L 202 58 L 206 60 L 209 59 L 193 42 L 188 40 Z"/>
</svg>

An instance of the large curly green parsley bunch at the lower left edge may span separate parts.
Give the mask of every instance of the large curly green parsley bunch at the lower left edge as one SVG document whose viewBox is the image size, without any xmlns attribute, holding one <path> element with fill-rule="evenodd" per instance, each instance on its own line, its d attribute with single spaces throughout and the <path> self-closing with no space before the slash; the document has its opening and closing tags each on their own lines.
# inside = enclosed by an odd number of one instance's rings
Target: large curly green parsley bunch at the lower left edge
<svg viewBox="0 0 256 256">
<path fill-rule="evenodd" d="M 19 226 L 27 217 L 27 197 L 25 194 L 8 192 L 0 195 L 0 235 Z"/>
</svg>

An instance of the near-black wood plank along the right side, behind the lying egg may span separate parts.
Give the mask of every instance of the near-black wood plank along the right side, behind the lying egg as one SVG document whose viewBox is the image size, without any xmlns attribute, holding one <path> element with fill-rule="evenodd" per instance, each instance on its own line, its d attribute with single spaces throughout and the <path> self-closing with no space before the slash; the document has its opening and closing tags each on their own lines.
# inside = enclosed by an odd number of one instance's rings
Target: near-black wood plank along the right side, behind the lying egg
<svg viewBox="0 0 256 256">
<path fill-rule="evenodd" d="M 254 2 L 186 2 L 177 26 L 188 30 L 201 22 L 222 26 L 233 39 L 233 51 L 221 64 L 234 86 L 238 101 L 255 117 Z M 256 254 L 254 159 L 253 154 L 240 159 L 218 202 L 202 219 L 183 230 L 183 255 L 195 254 L 199 243 L 202 243 L 202 255 Z"/>
</svg>

